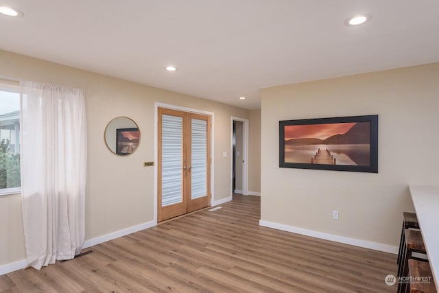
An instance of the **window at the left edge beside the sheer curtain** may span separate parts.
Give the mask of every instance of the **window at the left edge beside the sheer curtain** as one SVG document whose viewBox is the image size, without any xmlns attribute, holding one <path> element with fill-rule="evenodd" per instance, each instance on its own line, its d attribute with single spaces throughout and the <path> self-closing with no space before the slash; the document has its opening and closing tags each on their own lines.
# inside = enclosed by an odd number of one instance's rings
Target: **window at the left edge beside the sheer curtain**
<svg viewBox="0 0 439 293">
<path fill-rule="evenodd" d="M 20 191 L 19 86 L 0 84 L 0 196 Z"/>
</svg>

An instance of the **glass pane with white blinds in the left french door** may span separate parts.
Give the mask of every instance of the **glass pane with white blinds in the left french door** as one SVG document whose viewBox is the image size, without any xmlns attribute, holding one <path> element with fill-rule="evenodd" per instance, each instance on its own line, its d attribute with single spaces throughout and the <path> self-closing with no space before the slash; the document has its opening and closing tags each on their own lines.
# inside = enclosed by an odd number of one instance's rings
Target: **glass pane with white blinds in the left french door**
<svg viewBox="0 0 439 293">
<path fill-rule="evenodd" d="M 183 119 L 162 115 L 162 207 L 182 202 Z"/>
</svg>

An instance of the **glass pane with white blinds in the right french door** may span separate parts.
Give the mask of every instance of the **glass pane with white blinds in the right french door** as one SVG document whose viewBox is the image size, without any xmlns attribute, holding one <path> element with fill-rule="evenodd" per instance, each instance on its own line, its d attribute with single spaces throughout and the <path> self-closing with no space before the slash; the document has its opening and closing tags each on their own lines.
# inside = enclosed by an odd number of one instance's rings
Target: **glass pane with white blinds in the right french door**
<svg viewBox="0 0 439 293">
<path fill-rule="evenodd" d="M 207 195 L 207 121 L 192 119 L 191 198 Z"/>
</svg>

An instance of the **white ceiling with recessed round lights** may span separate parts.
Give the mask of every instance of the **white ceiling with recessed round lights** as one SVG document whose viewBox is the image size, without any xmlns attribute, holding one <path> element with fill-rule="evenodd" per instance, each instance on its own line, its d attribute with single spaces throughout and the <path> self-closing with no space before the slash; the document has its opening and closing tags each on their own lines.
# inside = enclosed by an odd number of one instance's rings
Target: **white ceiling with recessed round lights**
<svg viewBox="0 0 439 293">
<path fill-rule="evenodd" d="M 0 49 L 248 109 L 260 107 L 268 86 L 439 62 L 438 0 L 0 5 L 25 14 L 0 16 Z M 344 25 L 359 13 L 372 19 Z"/>
</svg>

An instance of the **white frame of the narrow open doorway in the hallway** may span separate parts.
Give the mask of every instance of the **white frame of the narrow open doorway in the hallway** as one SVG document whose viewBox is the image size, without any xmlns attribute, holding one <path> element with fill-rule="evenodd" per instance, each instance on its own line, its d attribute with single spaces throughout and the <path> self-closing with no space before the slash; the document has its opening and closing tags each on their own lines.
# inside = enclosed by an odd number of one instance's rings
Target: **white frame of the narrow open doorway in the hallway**
<svg viewBox="0 0 439 293">
<path fill-rule="evenodd" d="M 230 130 L 230 154 L 233 154 L 233 121 L 243 123 L 242 131 L 242 158 L 244 164 L 242 166 L 242 194 L 248 195 L 248 119 L 231 117 Z M 233 196 L 233 155 L 230 156 L 230 196 Z"/>
</svg>

